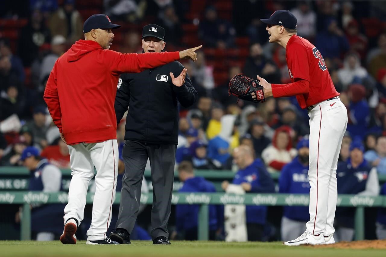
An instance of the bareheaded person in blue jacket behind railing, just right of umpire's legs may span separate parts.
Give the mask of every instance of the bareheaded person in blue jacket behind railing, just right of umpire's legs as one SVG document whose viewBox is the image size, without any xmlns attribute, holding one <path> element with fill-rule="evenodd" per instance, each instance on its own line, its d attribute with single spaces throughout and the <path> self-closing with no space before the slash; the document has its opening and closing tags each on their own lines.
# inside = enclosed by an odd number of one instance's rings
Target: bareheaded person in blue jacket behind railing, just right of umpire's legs
<svg viewBox="0 0 386 257">
<path fill-rule="evenodd" d="M 204 178 L 195 177 L 193 166 L 189 161 L 182 161 L 178 166 L 178 177 L 184 183 L 180 193 L 187 192 L 216 192 L 215 186 Z M 220 206 L 209 206 L 209 239 L 215 240 L 216 231 L 220 228 L 218 219 L 222 213 Z M 176 205 L 176 233 L 172 238 L 197 240 L 199 205 Z"/>
</svg>

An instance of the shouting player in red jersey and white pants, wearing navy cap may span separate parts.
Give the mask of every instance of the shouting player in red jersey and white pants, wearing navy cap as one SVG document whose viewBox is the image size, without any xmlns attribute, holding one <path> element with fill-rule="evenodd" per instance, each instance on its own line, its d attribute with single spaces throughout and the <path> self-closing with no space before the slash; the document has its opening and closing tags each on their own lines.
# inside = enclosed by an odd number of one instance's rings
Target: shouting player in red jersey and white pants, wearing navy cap
<svg viewBox="0 0 386 257">
<path fill-rule="evenodd" d="M 343 135 L 347 128 L 347 110 L 339 99 L 319 50 L 296 35 L 296 17 L 277 10 L 267 24 L 269 42 L 286 49 L 289 84 L 270 84 L 257 76 L 265 97 L 296 96 L 310 117 L 310 221 L 306 231 L 284 245 L 329 244 L 334 240 L 337 205 L 337 164 Z"/>
</svg>

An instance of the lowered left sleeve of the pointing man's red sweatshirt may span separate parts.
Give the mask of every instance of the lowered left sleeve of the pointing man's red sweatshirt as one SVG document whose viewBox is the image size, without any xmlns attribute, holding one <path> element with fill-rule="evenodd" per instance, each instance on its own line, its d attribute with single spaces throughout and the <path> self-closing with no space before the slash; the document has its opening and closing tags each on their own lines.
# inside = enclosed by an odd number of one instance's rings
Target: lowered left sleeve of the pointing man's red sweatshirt
<svg viewBox="0 0 386 257">
<path fill-rule="evenodd" d="M 56 65 L 58 63 L 58 60 L 56 60 L 54 68 L 52 69 L 49 75 L 46 89 L 44 90 L 43 98 L 44 98 L 44 101 L 46 101 L 47 103 L 47 107 L 48 107 L 49 113 L 51 114 L 53 122 L 55 123 L 56 127 L 59 128 L 59 132 L 63 133 L 62 113 L 61 113 L 60 103 L 59 103 L 58 86 L 56 84 Z"/>
</svg>

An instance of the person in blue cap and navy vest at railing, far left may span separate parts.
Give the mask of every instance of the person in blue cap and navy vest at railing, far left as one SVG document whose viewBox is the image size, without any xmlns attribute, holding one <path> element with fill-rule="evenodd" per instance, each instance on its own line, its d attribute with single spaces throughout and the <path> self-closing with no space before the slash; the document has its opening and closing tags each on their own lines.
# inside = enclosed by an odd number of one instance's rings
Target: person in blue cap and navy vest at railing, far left
<svg viewBox="0 0 386 257">
<path fill-rule="evenodd" d="M 36 147 L 25 148 L 20 160 L 30 171 L 29 191 L 61 191 L 62 172 L 47 159 L 42 159 Z M 52 241 L 55 235 L 60 235 L 63 229 L 63 204 L 32 204 L 31 208 L 31 230 L 37 233 L 37 241 Z M 20 213 L 17 216 L 20 216 Z"/>
</svg>

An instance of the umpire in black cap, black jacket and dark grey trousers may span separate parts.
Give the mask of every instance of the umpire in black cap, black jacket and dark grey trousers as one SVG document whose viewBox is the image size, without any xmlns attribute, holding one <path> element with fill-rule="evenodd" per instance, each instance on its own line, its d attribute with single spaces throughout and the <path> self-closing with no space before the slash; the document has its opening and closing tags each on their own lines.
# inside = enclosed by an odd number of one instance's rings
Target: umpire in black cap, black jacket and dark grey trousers
<svg viewBox="0 0 386 257">
<path fill-rule="evenodd" d="M 144 52 L 161 52 L 165 47 L 164 29 L 155 24 L 142 31 Z M 125 174 L 116 229 L 110 239 L 130 243 L 141 199 L 141 185 L 147 159 L 150 159 L 153 185 L 151 236 L 154 244 L 170 244 L 168 221 L 178 144 L 178 103 L 193 105 L 197 92 L 186 69 L 175 61 L 141 73 L 122 74 L 118 81 L 115 113 L 119 123 L 126 119 L 122 157 Z"/>
</svg>

